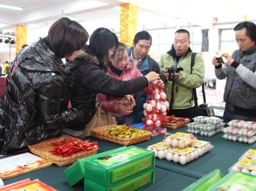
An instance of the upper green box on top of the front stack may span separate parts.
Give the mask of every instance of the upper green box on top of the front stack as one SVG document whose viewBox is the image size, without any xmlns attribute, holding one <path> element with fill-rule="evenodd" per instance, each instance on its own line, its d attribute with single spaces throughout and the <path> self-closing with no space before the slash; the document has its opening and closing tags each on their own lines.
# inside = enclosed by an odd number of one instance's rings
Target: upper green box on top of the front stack
<svg viewBox="0 0 256 191">
<path fill-rule="evenodd" d="M 84 178 L 103 187 L 155 167 L 155 153 L 136 146 L 120 147 L 115 150 L 86 157 Z"/>
</svg>

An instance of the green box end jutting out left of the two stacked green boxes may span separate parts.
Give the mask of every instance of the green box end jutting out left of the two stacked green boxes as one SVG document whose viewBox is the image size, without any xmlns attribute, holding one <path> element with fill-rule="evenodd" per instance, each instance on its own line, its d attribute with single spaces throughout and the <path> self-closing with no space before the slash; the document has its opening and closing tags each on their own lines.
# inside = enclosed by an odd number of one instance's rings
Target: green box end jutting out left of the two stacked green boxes
<svg viewBox="0 0 256 191">
<path fill-rule="evenodd" d="M 84 180 L 84 160 L 78 159 L 65 172 L 69 186 L 74 186 L 77 182 Z"/>
</svg>

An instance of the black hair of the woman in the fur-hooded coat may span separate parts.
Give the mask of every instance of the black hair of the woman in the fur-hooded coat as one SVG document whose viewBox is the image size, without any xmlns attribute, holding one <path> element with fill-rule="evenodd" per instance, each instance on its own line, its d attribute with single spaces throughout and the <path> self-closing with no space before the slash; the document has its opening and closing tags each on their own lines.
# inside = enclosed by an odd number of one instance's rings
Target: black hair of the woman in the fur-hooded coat
<svg viewBox="0 0 256 191">
<path fill-rule="evenodd" d="M 107 62 L 109 62 L 108 51 L 110 48 L 116 48 L 117 46 L 118 38 L 116 34 L 107 28 L 101 27 L 94 30 L 90 37 L 89 47 L 99 61 L 107 59 Z"/>
</svg>

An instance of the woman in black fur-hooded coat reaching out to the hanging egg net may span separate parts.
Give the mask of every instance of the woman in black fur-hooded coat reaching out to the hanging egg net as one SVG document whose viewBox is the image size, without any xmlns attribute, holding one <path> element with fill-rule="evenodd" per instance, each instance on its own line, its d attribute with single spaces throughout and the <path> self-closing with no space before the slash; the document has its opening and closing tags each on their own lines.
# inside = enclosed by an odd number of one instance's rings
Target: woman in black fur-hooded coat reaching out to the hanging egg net
<svg viewBox="0 0 256 191">
<path fill-rule="evenodd" d="M 128 81 L 119 80 L 106 74 L 110 56 L 118 46 L 118 38 L 106 28 L 96 29 L 74 62 L 68 63 L 68 70 L 75 75 L 70 102 L 73 107 L 83 110 L 84 121 L 67 127 L 65 133 L 82 136 L 87 123 L 95 114 L 97 93 L 123 97 L 148 87 L 148 83 L 159 79 L 159 74 L 150 72 L 145 77 Z"/>
</svg>

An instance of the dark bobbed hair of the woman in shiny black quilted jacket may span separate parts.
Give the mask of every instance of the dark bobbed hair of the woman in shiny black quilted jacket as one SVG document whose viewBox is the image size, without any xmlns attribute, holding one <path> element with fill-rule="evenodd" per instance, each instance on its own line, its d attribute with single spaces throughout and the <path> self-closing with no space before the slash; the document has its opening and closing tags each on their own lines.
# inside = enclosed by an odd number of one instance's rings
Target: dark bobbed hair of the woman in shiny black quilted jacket
<svg viewBox="0 0 256 191">
<path fill-rule="evenodd" d="M 81 24 L 67 17 L 55 21 L 49 29 L 46 44 L 52 52 L 63 58 L 74 51 L 82 49 L 89 38 L 88 32 Z"/>
</svg>

